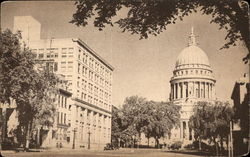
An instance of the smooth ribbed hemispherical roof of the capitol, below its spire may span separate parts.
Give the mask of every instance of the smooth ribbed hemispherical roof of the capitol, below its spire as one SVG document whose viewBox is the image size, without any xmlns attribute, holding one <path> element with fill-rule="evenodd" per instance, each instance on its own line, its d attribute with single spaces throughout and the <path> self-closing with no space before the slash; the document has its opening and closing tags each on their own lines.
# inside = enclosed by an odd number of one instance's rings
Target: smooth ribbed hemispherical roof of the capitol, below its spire
<svg viewBox="0 0 250 157">
<path fill-rule="evenodd" d="M 206 53 L 198 46 L 191 45 L 181 51 L 176 60 L 176 67 L 186 64 L 201 64 L 210 66 Z"/>
</svg>

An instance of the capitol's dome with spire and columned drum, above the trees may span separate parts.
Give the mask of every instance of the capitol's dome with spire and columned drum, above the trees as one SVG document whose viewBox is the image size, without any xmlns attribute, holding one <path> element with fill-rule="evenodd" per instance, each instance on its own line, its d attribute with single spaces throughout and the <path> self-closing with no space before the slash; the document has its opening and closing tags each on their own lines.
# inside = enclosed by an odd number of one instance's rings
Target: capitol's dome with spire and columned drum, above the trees
<svg viewBox="0 0 250 157">
<path fill-rule="evenodd" d="M 170 80 L 170 100 L 213 100 L 215 82 L 208 57 L 197 46 L 192 28 L 188 46 L 181 51 L 175 63 Z"/>
</svg>

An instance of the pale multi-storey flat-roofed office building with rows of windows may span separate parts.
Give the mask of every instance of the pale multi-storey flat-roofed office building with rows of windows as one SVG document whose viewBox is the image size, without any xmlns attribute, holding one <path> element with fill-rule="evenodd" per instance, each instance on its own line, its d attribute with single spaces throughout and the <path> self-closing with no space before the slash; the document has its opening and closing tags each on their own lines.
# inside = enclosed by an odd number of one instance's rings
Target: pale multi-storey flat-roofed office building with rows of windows
<svg viewBox="0 0 250 157">
<path fill-rule="evenodd" d="M 22 29 L 22 23 L 14 23 L 14 28 Z M 40 34 L 39 29 L 34 31 Z M 37 64 L 64 75 L 68 82 L 72 97 L 67 105 L 70 116 L 65 120 L 67 146 L 102 149 L 110 143 L 114 68 L 78 38 L 29 40 L 28 46 L 36 54 Z"/>
</svg>

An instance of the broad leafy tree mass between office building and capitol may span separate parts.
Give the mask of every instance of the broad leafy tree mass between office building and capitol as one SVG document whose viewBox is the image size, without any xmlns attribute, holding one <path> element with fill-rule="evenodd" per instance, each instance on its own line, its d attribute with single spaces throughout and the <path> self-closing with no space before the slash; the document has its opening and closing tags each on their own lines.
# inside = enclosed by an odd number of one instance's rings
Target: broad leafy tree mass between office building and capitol
<svg viewBox="0 0 250 157">
<path fill-rule="evenodd" d="M 180 107 L 166 102 L 147 101 L 138 96 L 127 97 L 123 107 L 113 110 L 112 136 L 114 139 L 129 141 L 139 147 L 141 134 L 149 139 L 155 138 L 156 146 L 159 139 L 169 134 L 179 122 Z"/>
</svg>

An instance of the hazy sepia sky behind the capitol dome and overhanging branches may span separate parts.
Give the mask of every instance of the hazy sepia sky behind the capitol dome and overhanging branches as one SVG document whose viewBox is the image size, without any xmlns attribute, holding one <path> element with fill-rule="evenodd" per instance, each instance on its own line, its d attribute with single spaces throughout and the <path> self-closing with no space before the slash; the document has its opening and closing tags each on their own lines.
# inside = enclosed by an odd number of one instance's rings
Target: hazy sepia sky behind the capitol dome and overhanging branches
<svg viewBox="0 0 250 157">
<path fill-rule="evenodd" d="M 113 105 L 121 106 L 126 97 L 138 95 L 154 101 L 168 101 L 170 79 L 178 54 L 187 46 L 191 27 L 199 47 L 207 54 L 216 81 L 216 96 L 231 101 L 235 81 L 248 72 L 242 62 L 247 49 L 237 46 L 220 50 L 226 43 L 224 30 L 210 24 L 211 16 L 198 13 L 184 17 L 158 36 L 139 40 L 115 25 L 99 31 L 89 21 L 87 27 L 69 23 L 76 7 L 72 1 L 23 1 L 1 3 L 1 28 L 13 29 L 14 16 L 31 15 L 41 25 L 41 38 L 80 38 L 114 68 Z M 122 10 L 118 19 L 125 15 Z"/>
</svg>

